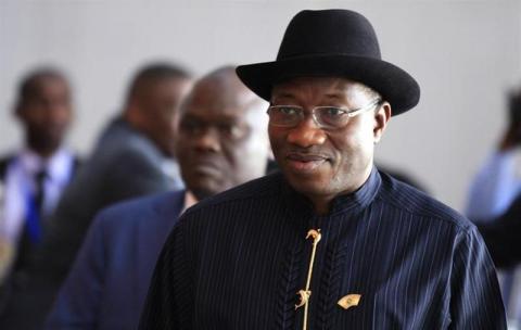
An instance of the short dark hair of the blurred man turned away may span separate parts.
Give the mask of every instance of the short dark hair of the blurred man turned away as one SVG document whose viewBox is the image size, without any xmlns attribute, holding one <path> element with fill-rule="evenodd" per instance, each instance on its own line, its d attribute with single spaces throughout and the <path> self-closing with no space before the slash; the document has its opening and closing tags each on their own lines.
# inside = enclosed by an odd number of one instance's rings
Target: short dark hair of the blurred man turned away
<svg viewBox="0 0 521 330">
<path fill-rule="evenodd" d="M 140 68 L 134 76 L 127 92 L 127 100 L 135 97 L 145 85 L 166 79 L 189 79 L 188 69 L 169 63 L 152 63 Z"/>
</svg>

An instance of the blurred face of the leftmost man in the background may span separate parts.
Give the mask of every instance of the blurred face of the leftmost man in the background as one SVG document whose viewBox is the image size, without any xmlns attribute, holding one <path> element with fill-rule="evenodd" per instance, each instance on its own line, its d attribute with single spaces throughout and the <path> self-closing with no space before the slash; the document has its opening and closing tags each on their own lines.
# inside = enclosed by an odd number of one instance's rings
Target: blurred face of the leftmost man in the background
<svg viewBox="0 0 521 330">
<path fill-rule="evenodd" d="M 36 78 L 35 90 L 23 100 L 16 115 L 25 127 L 29 143 L 40 150 L 54 150 L 61 143 L 72 120 L 71 91 L 60 77 Z"/>
</svg>

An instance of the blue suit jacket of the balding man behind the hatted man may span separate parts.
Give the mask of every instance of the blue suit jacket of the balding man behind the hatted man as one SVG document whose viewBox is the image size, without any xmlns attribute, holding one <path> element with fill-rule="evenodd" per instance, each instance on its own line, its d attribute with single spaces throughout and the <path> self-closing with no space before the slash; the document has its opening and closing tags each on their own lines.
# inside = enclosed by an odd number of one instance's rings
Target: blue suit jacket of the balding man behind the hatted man
<svg viewBox="0 0 521 330">
<path fill-rule="evenodd" d="M 154 265 L 185 205 L 185 192 L 102 211 L 49 317 L 48 329 L 136 329 Z"/>
</svg>

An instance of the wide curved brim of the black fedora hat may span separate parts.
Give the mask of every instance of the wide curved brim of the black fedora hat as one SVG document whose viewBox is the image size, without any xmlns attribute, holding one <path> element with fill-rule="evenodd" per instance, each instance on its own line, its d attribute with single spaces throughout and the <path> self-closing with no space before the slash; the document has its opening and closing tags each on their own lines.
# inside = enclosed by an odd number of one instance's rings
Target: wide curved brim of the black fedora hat
<svg viewBox="0 0 521 330">
<path fill-rule="evenodd" d="M 296 77 L 344 77 L 361 82 L 391 103 L 393 116 L 408 111 L 420 100 L 420 86 L 408 73 L 371 58 L 345 54 L 300 56 L 240 65 L 237 74 L 244 85 L 267 101 L 270 101 L 274 85 Z"/>
</svg>

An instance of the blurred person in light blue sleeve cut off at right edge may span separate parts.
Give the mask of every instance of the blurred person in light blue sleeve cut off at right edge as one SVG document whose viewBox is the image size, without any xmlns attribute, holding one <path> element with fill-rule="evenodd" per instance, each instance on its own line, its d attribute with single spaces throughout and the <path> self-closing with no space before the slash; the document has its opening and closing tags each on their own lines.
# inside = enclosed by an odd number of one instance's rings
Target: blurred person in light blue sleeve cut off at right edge
<svg viewBox="0 0 521 330">
<path fill-rule="evenodd" d="M 470 219 L 479 223 L 494 223 L 504 217 L 511 217 L 508 211 L 512 202 L 521 193 L 519 178 L 519 147 L 521 145 L 521 89 L 513 89 L 508 96 L 508 125 L 501 134 L 496 149 L 487 156 L 474 176 L 467 202 L 466 213 Z M 516 207 L 513 208 L 516 210 Z M 505 213 L 509 215 L 505 215 Z M 485 226 L 488 244 L 497 254 L 498 233 L 508 228 L 510 221 Z M 485 230 L 485 229 L 484 229 Z M 494 232 L 494 233 L 493 233 Z M 516 232 L 516 231 L 513 231 Z M 508 241 L 511 232 L 506 232 Z M 494 239 L 492 238 L 494 237 Z M 492 243 L 494 241 L 494 243 Z M 501 245 L 500 243 L 499 245 Z M 498 265 L 504 265 L 503 257 L 495 257 Z M 507 307 L 507 316 L 512 325 L 521 325 L 521 267 L 500 267 L 498 269 L 503 299 Z"/>
</svg>

